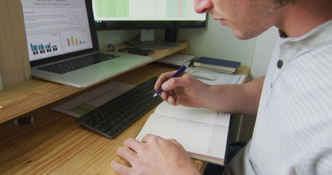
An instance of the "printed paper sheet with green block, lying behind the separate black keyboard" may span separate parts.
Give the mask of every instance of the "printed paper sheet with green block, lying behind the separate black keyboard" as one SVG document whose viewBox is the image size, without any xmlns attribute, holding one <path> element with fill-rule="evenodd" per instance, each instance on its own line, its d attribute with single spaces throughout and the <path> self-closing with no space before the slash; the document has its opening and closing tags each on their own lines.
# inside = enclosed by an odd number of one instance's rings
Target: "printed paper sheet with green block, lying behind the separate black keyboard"
<svg viewBox="0 0 332 175">
<path fill-rule="evenodd" d="M 52 109 L 78 118 L 133 87 L 135 86 L 113 81 Z"/>
</svg>

